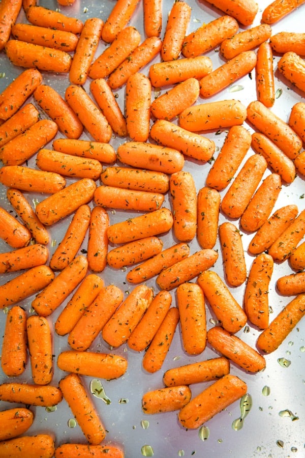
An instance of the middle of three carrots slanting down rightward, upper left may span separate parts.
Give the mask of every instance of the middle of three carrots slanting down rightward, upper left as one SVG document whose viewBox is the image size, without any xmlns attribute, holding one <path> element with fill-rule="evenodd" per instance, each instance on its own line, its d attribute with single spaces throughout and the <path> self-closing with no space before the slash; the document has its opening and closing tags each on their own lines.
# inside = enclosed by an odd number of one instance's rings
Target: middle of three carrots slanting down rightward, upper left
<svg viewBox="0 0 305 458">
<path fill-rule="evenodd" d="M 108 143 L 112 129 L 102 111 L 84 89 L 70 84 L 66 89 L 66 100 L 94 140 Z"/>
</svg>

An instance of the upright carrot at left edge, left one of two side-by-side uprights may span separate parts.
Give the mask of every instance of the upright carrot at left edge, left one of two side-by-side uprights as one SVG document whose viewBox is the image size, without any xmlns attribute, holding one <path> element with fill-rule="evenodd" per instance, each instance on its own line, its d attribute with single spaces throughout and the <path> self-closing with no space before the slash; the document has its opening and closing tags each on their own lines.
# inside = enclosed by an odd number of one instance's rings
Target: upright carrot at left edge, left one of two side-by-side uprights
<svg viewBox="0 0 305 458">
<path fill-rule="evenodd" d="M 27 361 L 26 312 L 19 305 L 7 314 L 1 352 L 1 367 L 8 377 L 23 373 Z"/>
</svg>

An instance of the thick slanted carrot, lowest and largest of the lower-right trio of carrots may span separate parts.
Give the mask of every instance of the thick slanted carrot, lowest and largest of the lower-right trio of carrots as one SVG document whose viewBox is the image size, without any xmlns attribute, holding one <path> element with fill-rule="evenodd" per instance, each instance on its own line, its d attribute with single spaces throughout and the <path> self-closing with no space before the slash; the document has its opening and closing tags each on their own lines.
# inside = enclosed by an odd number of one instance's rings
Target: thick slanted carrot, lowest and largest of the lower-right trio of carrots
<svg viewBox="0 0 305 458">
<path fill-rule="evenodd" d="M 178 413 L 182 426 L 196 429 L 247 393 L 247 385 L 227 374 L 190 400 Z"/>
</svg>

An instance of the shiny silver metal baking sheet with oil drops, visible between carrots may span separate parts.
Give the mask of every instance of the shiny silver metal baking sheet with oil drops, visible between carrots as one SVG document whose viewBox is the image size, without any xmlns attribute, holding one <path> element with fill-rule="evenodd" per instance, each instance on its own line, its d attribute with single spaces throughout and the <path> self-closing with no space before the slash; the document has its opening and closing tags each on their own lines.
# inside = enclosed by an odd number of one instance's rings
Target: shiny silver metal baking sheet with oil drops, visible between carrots
<svg viewBox="0 0 305 458">
<path fill-rule="evenodd" d="M 261 13 L 269 2 L 260 0 L 258 3 L 259 12 L 253 25 L 258 25 L 260 23 Z M 221 11 L 212 8 L 209 4 L 204 2 L 190 0 L 189 4 L 192 7 L 192 17 L 189 23 L 188 33 L 196 30 L 202 23 L 207 23 L 223 14 Z M 105 21 L 114 6 L 114 2 L 112 0 L 104 0 L 103 2 L 83 2 L 76 0 L 75 4 L 71 7 L 59 7 L 55 1 L 48 0 L 40 1 L 39 5 L 50 9 L 58 9 L 68 16 L 76 16 L 83 21 L 94 16 L 100 17 Z M 163 26 L 161 38 L 164 34 L 167 15 L 171 6 L 171 1 L 163 1 Z M 297 11 L 291 13 L 279 23 L 273 25 L 272 33 L 275 34 L 279 31 L 303 32 L 302 18 L 304 18 L 304 12 L 304 7 L 300 7 Z M 26 22 L 23 11 L 20 13 L 17 22 Z M 130 24 L 135 25 L 138 28 L 143 41 L 145 35 L 143 31 L 143 9 L 141 2 L 139 3 Z M 240 27 L 240 30 L 245 30 L 245 28 L 246 27 Z M 105 43 L 101 42 L 96 52 L 96 56 L 100 55 L 104 48 Z M 218 49 L 213 49 L 205 55 L 208 55 L 211 58 L 214 68 L 217 68 L 223 63 Z M 153 62 L 158 62 L 159 60 L 160 58 L 158 56 Z M 278 94 L 280 94 L 281 91 L 282 94 L 276 99 L 275 104 L 272 107 L 272 111 L 277 113 L 277 115 L 283 120 L 288 121 L 291 107 L 298 101 L 304 101 L 304 94 L 293 90 L 290 85 L 287 84 L 287 81 L 283 80 L 277 71 L 278 60 L 279 56 L 275 56 L 275 83 L 276 90 L 279 90 Z M 142 72 L 148 74 L 148 69 L 149 66 L 142 69 Z M 21 71 L 23 71 L 23 69 L 14 67 L 9 63 L 5 53 L 2 51 L 0 53 L 0 91 L 3 91 L 12 79 L 21 73 Z M 68 76 L 64 74 L 56 75 L 45 72 L 42 74 L 43 82 L 51 85 L 62 96 L 64 96 L 65 90 L 69 85 Z M 84 84 L 84 88 L 87 91 L 89 91 L 89 83 L 90 80 L 87 80 Z M 239 88 L 239 91 L 235 91 L 237 89 L 237 85 L 241 87 L 241 89 Z M 165 89 L 163 89 L 161 93 L 164 91 Z M 125 89 L 122 88 L 115 92 L 118 94 L 117 101 L 121 109 L 124 110 Z M 154 94 L 153 91 L 153 97 L 156 94 Z M 208 99 L 208 101 L 238 99 L 247 106 L 249 102 L 256 100 L 256 98 L 255 72 L 253 71 L 252 78 L 248 75 L 245 76 L 234 83 L 232 87 Z M 31 97 L 28 101 L 32 101 L 36 105 L 33 97 Z M 199 98 L 197 103 L 204 103 L 204 100 Z M 42 118 L 46 118 L 43 111 L 41 111 L 41 116 Z M 153 123 L 153 120 L 151 123 Z M 253 131 L 250 125 L 245 125 L 251 132 Z M 226 130 L 223 130 L 217 133 L 215 131 L 208 132 L 204 135 L 215 141 L 217 151 L 219 151 L 223 145 L 226 133 Z M 57 134 L 55 138 L 59 137 L 62 137 L 62 135 Z M 80 138 L 92 139 L 85 132 Z M 110 144 L 116 149 L 118 145 L 126 140 L 128 139 L 113 136 L 110 140 Z M 51 148 L 51 144 L 47 145 L 47 148 L 48 147 Z M 216 152 L 215 157 L 217 154 L 218 153 Z M 245 160 L 250 154 L 253 154 L 253 151 L 249 151 Z M 245 160 L 242 161 L 242 164 Z M 28 166 L 36 167 L 35 158 L 28 161 Z M 187 158 L 185 170 L 189 170 L 193 174 L 197 192 L 205 185 L 205 178 L 210 166 L 211 165 L 209 163 L 202 163 Z M 270 170 L 267 170 L 263 178 L 265 178 L 265 176 L 269 173 Z M 72 183 L 73 180 L 67 179 L 67 184 L 70 182 Z M 221 195 L 224 195 L 225 192 L 226 190 L 222 191 Z M 291 203 L 296 204 L 299 211 L 303 210 L 305 208 L 304 192 L 304 181 L 300 176 L 297 176 L 292 184 L 283 185 L 274 210 Z M 25 195 L 31 202 L 34 202 L 35 199 L 40 201 L 45 197 L 43 195 L 26 193 Z M 0 196 L 1 205 L 6 209 L 10 209 L 6 198 L 6 189 L 4 189 L 3 186 L 0 188 Z M 170 206 L 168 195 L 165 197 L 164 205 Z M 124 220 L 137 214 L 136 212 L 126 214 L 124 211 L 110 210 L 111 209 L 109 209 L 110 223 Z M 68 217 L 62 222 L 48 227 L 51 241 L 48 246 L 50 254 L 54 252 L 59 241 L 62 239 L 70 221 L 71 217 Z M 219 223 L 222 223 L 223 221 L 225 221 L 225 217 L 221 214 Z M 233 222 L 238 225 L 238 221 Z M 246 252 L 247 268 L 249 270 L 254 259 L 253 256 L 250 256 L 247 253 L 247 247 L 252 235 L 247 235 L 243 231 L 241 231 L 241 233 L 243 246 Z M 161 238 L 164 242 L 164 248 L 167 248 L 173 243 L 171 233 L 163 235 Z M 86 244 L 87 238 L 84 240 L 81 249 L 85 249 Z M 194 253 L 200 248 L 196 239 L 190 243 L 190 248 L 191 253 Z M 224 277 L 219 241 L 217 241 L 215 249 L 219 251 L 219 259 L 213 269 Z M 8 250 L 8 246 L 1 242 L 0 250 L 1 252 L 5 252 Z M 20 272 L 18 272 L 18 274 L 19 273 Z M 270 320 L 272 320 L 273 317 L 275 317 L 276 314 L 278 314 L 278 312 L 292 299 L 291 297 L 282 297 L 277 293 L 275 288 L 276 280 L 280 276 L 289 273 L 292 273 L 292 271 L 287 261 L 282 264 L 275 263 L 269 289 L 269 305 L 272 311 L 270 314 Z M 16 274 L 7 274 L 1 276 L 1 284 L 5 283 L 10 278 L 13 278 L 15 275 Z M 117 271 L 107 266 L 105 271 L 100 275 L 104 279 L 105 284 L 113 282 L 121 288 L 125 293 L 125 297 L 133 289 L 133 285 L 128 284 L 126 281 L 126 272 L 120 270 Z M 156 293 L 159 291 L 155 278 L 147 281 L 146 284 L 153 287 Z M 230 288 L 230 291 L 239 304 L 242 304 L 245 284 L 238 288 Z M 172 291 L 172 297 L 173 304 L 175 304 L 175 291 Z M 29 314 L 33 313 L 33 310 L 31 309 L 31 302 L 33 298 L 34 297 L 30 297 L 20 303 L 20 305 L 23 306 Z M 50 324 L 53 324 L 56 321 L 62 308 L 63 307 L 59 307 L 59 309 L 53 312 L 51 317 L 49 317 Z M 208 305 L 206 306 L 206 311 L 207 327 L 209 329 L 214 326 L 215 317 L 211 313 Z M 4 310 L 4 312 L 1 312 L 0 314 L 1 342 L 4 333 L 5 320 L 6 314 Z M 277 351 L 265 356 L 266 368 L 258 374 L 247 373 L 236 365 L 231 364 L 231 374 L 237 375 L 248 385 L 248 393 L 252 397 L 252 408 L 247 418 L 245 418 L 245 421 L 243 421 L 242 428 L 239 431 L 235 431 L 232 428 L 232 423 L 235 419 L 239 418 L 240 407 L 238 401 L 232 404 L 228 409 L 225 409 L 205 424 L 205 426 L 208 427 L 209 434 L 208 439 L 205 440 L 203 440 L 202 436 L 200 437 L 199 430 L 186 431 L 178 422 L 176 412 L 163 413 L 153 416 L 145 415 L 141 410 L 141 398 L 144 392 L 163 387 L 162 376 L 164 371 L 168 368 L 218 356 L 215 351 L 207 345 L 207 348 L 201 355 L 187 355 L 182 349 L 180 330 L 178 327 L 162 369 L 155 374 L 148 374 L 142 368 L 143 353 L 131 351 L 126 345 L 115 349 L 116 354 L 122 355 L 128 359 L 128 370 L 120 379 L 113 381 L 101 380 L 105 393 L 111 400 L 110 404 L 104 403 L 101 399 L 95 397 L 93 398 L 100 413 L 102 422 L 108 430 L 103 444 L 111 443 L 123 448 L 127 458 L 138 458 L 143 456 L 144 452 L 142 447 L 145 445 L 150 446 L 154 451 L 154 456 L 158 457 L 230 456 L 232 458 L 240 458 L 244 456 L 304 456 L 304 331 L 305 323 L 300 322 Z M 248 323 L 245 328 L 237 333 L 237 335 L 245 340 L 249 345 L 255 346 L 259 331 Z M 69 349 L 67 337 L 60 337 L 53 333 L 53 346 L 53 354 L 55 356 L 54 377 L 52 384 L 57 385 L 58 381 L 66 375 L 66 373 L 57 368 L 56 359 L 61 351 Z M 92 347 L 90 347 L 90 350 L 109 352 L 109 348 L 101 336 L 96 338 Z M 289 360 L 290 364 L 288 367 L 281 366 L 278 362 L 279 358 L 286 358 Z M 18 378 L 18 380 L 28 383 L 32 382 L 29 363 L 24 374 Z M 82 380 L 89 390 L 89 384 L 92 378 L 82 377 Z M 8 381 L 9 379 L 0 370 L 0 383 Z M 210 383 L 192 385 L 191 389 L 193 397 L 205 389 Z M 269 394 L 266 395 L 267 393 Z M 0 406 L 1 410 L 11 407 L 13 407 L 13 405 L 9 403 L 2 403 Z M 74 428 L 68 426 L 69 419 L 73 418 L 73 415 L 65 400 L 63 400 L 63 402 L 60 403 L 53 412 L 47 412 L 47 410 L 42 407 L 31 408 L 31 410 L 33 410 L 35 414 L 35 421 L 26 434 L 34 435 L 37 433 L 51 433 L 54 435 L 56 446 L 64 442 L 86 443 L 78 425 Z M 291 412 L 291 415 L 289 415 L 289 411 Z M 296 419 L 294 417 L 298 418 Z"/>
</svg>

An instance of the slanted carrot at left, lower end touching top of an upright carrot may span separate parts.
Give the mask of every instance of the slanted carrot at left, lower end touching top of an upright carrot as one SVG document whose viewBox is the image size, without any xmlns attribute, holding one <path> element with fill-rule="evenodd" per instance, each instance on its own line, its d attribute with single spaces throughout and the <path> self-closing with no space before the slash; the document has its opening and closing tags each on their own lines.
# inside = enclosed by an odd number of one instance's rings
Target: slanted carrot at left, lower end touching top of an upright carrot
<svg viewBox="0 0 305 458">
<path fill-rule="evenodd" d="M 83 280 L 88 262 L 82 255 L 75 257 L 32 301 L 32 307 L 41 317 L 49 316 Z"/>
</svg>

